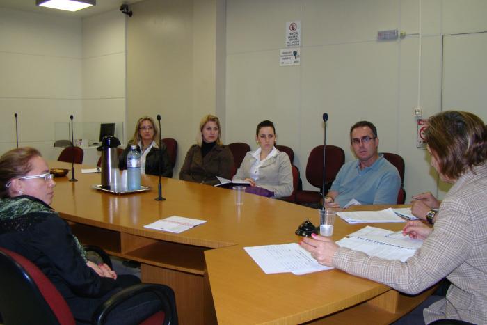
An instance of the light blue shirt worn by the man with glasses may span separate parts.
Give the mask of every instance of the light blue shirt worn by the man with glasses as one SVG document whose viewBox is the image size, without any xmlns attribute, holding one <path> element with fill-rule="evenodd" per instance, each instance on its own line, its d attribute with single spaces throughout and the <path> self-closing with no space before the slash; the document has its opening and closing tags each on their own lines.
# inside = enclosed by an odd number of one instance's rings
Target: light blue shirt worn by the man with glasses
<svg viewBox="0 0 487 325">
<path fill-rule="evenodd" d="M 330 191 L 337 191 L 335 202 L 344 207 L 352 198 L 362 205 L 396 204 L 401 177 L 397 168 L 379 154 L 370 167 L 360 169 L 358 159 L 344 164 Z"/>
</svg>

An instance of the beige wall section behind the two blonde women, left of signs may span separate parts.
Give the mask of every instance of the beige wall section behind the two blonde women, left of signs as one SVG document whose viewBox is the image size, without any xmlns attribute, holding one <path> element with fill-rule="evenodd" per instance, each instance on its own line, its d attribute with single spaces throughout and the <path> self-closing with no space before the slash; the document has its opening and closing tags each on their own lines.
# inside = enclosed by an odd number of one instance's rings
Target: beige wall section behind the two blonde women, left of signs
<svg viewBox="0 0 487 325">
<path fill-rule="evenodd" d="M 138 118 L 161 114 L 162 137 L 178 142 L 174 177 L 195 143 L 200 119 L 216 112 L 216 70 L 223 77 L 225 73 L 222 63 L 216 61 L 217 54 L 223 56 L 225 50 L 218 44 L 216 32 L 221 2 L 145 0 L 131 6 L 134 16 L 127 22 L 128 137 Z M 218 96 L 223 106 L 221 93 Z M 225 113 L 224 108 L 220 113 Z"/>
</svg>

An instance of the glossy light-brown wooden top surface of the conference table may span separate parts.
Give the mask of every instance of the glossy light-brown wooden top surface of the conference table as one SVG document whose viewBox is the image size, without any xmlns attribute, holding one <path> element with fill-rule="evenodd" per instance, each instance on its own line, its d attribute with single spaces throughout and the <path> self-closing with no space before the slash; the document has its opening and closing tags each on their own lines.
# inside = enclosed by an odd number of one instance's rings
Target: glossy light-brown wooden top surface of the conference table
<svg viewBox="0 0 487 325">
<path fill-rule="evenodd" d="M 50 168 L 70 164 L 49 161 Z M 88 168 L 88 166 L 83 166 Z M 389 287 L 342 271 L 321 271 L 303 276 L 264 274 L 244 246 L 298 242 L 294 231 L 304 220 L 317 225 L 317 210 L 244 194 L 244 205 L 234 204 L 228 189 L 162 178 L 163 202 L 157 197 L 157 177 L 142 177 L 151 191 L 117 196 L 92 189 L 100 174 L 81 174 L 78 182 L 56 178 L 52 207 L 64 219 L 152 239 L 201 246 L 219 324 L 297 324 L 329 315 L 387 292 Z M 378 209 L 381 207 L 367 207 Z M 143 225 L 168 216 L 204 219 L 207 223 L 181 234 L 148 230 Z M 369 224 L 400 230 L 404 223 Z M 337 218 L 333 238 L 362 228 Z"/>
</svg>

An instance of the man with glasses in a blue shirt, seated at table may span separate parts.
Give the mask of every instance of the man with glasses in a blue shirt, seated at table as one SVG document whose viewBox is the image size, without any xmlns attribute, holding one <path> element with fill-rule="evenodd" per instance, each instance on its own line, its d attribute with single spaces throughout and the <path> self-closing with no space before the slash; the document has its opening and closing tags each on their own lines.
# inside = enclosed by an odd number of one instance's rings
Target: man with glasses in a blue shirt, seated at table
<svg viewBox="0 0 487 325">
<path fill-rule="evenodd" d="M 344 164 L 325 197 L 326 207 L 395 204 L 401 186 L 397 168 L 378 154 L 377 129 L 371 122 L 356 122 L 350 143 L 357 159 Z"/>
</svg>

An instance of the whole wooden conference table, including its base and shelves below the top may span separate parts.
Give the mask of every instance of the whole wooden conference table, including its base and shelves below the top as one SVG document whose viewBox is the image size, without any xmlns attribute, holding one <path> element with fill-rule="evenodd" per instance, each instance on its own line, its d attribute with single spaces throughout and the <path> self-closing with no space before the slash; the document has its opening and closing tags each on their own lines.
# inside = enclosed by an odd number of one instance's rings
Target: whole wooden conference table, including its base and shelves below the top
<svg viewBox="0 0 487 325">
<path fill-rule="evenodd" d="M 50 168 L 70 164 L 49 161 Z M 303 221 L 319 222 L 315 209 L 244 194 L 234 204 L 228 189 L 162 178 L 164 201 L 156 201 L 158 177 L 143 175 L 151 191 L 114 195 L 93 189 L 99 173 L 77 182 L 56 178 L 52 207 L 70 223 L 83 244 L 141 263 L 143 282 L 175 290 L 180 324 L 389 324 L 431 292 L 406 296 L 386 285 L 332 269 L 312 274 L 264 274 L 246 246 L 300 241 Z M 383 209 L 362 206 L 361 209 Z M 206 220 L 175 234 L 144 228 L 168 216 Z M 403 223 L 369 224 L 400 230 Z M 333 239 L 364 225 L 337 219 Z"/>
</svg>

